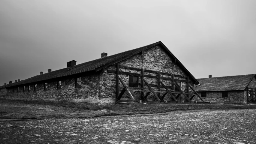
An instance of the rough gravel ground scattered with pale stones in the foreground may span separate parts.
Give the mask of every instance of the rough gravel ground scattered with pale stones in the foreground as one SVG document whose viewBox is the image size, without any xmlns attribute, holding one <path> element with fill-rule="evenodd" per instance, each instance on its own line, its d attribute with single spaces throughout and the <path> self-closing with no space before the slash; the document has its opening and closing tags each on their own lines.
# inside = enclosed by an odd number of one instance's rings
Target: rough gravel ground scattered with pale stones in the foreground
<svg viewBox="0 0 256 144">
<path fill-rule="evenodd" d="M 0 122 L 0 143 L 251 143 L 256 111 Z"/>
</svg>

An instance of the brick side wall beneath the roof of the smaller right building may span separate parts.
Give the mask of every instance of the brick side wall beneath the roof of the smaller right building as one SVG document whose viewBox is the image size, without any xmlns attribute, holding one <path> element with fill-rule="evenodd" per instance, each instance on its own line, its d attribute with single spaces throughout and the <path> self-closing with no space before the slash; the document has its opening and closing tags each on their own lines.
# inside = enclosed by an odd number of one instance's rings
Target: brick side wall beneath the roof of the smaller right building
<svg viewBox="0 0 256 144">
<path fill-rule="evenodd" d="M 201 92 L 197 92 L 201 96 Z M 212 103 L 232 103 L 232 104 L 246 104 L 244 91 L 228 91 L 228 97 L 222 98 L 221 91 L 206 91 L 206 97 L 202 97 L 204 101 L 211 101 Z M 195 100 L 199 101 L 199 98 Z"/>
</svg>

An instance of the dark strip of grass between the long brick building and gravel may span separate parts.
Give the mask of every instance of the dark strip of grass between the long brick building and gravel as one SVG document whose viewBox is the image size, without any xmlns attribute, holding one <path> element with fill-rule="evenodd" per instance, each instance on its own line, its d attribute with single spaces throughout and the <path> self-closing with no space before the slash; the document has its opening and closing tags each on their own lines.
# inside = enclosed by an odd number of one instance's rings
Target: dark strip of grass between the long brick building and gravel
<svg viewBox="0 0 256 144">
<path fill-rule="evenodd" d="M 231 104 L 180 104 L 180 103 L 149 103 L 149 104 L 117 104 L 98 105 L 92 103 L 54 103 L 48 101 L 0 100 L 0 119 L 26 118 L 86 118 L 95 116 L 116 116 L 147 113 L 166 113 L 178 110 L 202 109 L 255 109 L 254 105 Z M 7 115 L 8 114 L 8 115 Z"/>
</svg>

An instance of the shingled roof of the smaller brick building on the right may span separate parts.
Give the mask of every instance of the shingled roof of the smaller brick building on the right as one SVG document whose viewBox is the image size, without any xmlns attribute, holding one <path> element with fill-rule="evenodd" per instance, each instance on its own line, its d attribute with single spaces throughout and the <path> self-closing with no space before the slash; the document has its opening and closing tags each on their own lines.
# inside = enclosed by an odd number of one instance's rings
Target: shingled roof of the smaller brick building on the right
<svg viewBox="0 0 256 144">
<path fill-rule="evenodd" d="M 195 91 L 239 91 L 245 90 L 255 74 L 239 76 L 222 76 L 197 79 L 201 85 L 195 86 Z"/>
</svg>

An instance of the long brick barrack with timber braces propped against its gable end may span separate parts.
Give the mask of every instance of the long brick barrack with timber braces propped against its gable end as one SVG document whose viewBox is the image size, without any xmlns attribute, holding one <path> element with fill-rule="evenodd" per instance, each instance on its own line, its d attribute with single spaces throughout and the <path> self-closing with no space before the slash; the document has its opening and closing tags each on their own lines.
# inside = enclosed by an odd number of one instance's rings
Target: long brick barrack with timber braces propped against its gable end
<svg viewBox="0 0 256 144">
<path fill-rule="evenodd" d="M 197 79 L 159 41 L 82 64 L 69 61 L 2 88 L 8 99 L 115 104 L 200 101 L 194 84 Z"/>
</svg>

